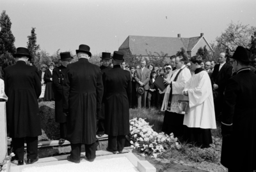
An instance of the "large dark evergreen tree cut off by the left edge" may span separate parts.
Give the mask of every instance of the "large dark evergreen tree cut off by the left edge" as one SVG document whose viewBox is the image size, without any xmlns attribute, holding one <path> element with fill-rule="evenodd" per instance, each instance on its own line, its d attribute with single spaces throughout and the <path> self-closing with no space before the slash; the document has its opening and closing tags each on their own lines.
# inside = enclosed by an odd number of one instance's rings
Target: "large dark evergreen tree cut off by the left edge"
<svg viewBox="0 0 256 172">
<path fill-rule="evenodd" d="M 1 13 L 0 27 L 0 66 L 4 69 L 15 63 L 12 54 L 15 54 L 16 52 L 14 46 L 15 37 L 11 31 L 12 22 L 6 14 L 6 11 Z"/>
</svg>

